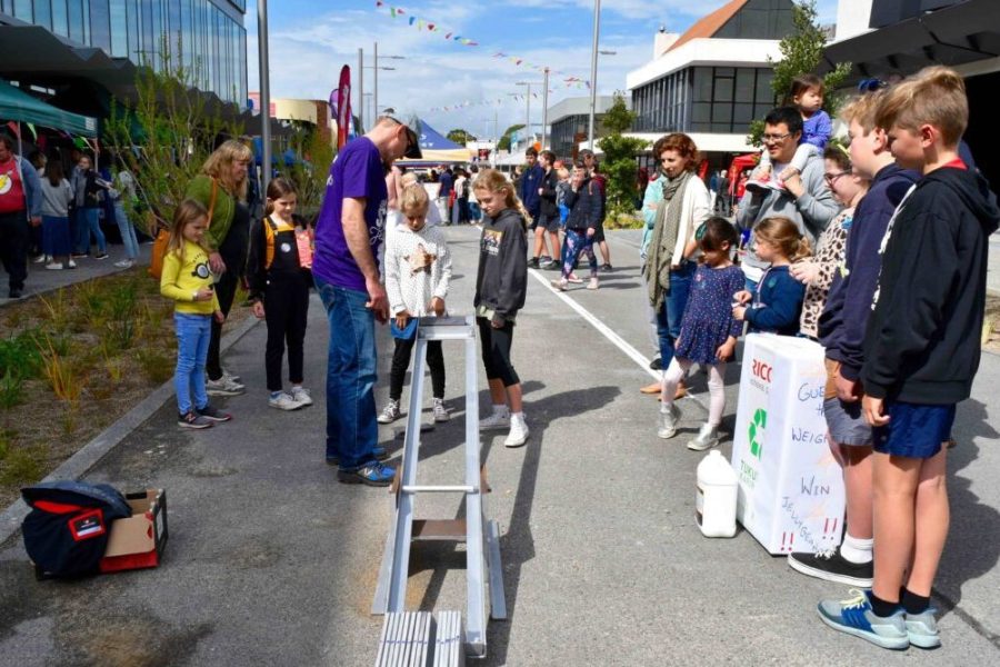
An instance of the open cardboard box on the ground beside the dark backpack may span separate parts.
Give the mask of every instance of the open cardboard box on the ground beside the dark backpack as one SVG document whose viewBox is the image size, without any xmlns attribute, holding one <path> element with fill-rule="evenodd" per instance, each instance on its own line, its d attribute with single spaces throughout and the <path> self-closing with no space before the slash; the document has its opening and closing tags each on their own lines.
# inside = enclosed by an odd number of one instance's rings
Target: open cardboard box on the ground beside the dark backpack
<svg viewBox="0 0 1000 667">
<path fill-rule="evenodd" d="M 167 491 L 148 489 L 126 494 L 126 499 L 132 506 L 132 516 L 111 524 L 100 563 L 102 573 L 157 567 L 167 545 Z"/>
</svg>

